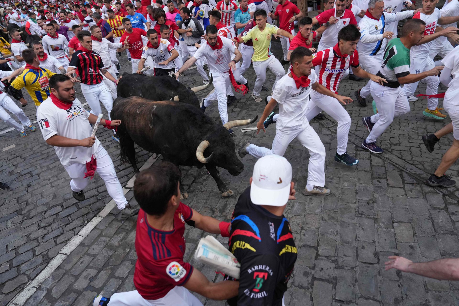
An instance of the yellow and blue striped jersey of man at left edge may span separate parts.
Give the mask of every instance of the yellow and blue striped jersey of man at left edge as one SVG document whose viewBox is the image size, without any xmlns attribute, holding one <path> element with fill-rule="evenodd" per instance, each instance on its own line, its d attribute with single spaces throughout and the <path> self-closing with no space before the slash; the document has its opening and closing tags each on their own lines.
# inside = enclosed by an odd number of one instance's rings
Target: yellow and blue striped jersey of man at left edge
<svg viewBox="0 0 459 306">
<path fill-rule="evenodd" d="M 17 90 L 26 88 L 28 94 L 32 97 L 36 106 L 48 99 L 50 96 L 50 78 L 56 73 L 48 69 L 38 67 L 36 69 L 25 68 L 24 71 L 16 77 L 11 86 Z"/>
</svg>

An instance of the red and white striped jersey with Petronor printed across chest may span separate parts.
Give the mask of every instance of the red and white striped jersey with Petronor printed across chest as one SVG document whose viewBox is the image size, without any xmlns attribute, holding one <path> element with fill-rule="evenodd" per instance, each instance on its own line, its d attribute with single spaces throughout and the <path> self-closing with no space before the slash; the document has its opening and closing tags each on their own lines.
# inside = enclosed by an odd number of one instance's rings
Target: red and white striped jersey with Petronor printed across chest
<svg viewBox="0 0 459 306">
<path fill-rule="evenodd" d="M 338 94 L 336 89 L 344 72 L 349 66 L 358 67 L 359 65 L 357 50 L 354 50 L 352 55 L 342 55 L 338 44 L 313 54 L 313 66 L 321 67 L 319 83 L 335 92 L 335 94 Z"/>
</svg>

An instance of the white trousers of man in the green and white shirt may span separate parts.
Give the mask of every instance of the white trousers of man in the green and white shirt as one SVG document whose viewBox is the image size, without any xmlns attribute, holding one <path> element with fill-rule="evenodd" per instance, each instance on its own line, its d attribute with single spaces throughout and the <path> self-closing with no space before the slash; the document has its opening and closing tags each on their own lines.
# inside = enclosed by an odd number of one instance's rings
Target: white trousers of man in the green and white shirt
<svg viewBox="0 0 459 306">
<path fill-rule="evenodd" d="M 367 143 L 376 142 L 376 139 L 391 125 L 395 116 L 409 113 L 408 98 L 402 87 L 390 88 L 372 82 L 370 91 L 378 113 L 371 116 L 371 122 L 375 125 L 366 139 Z"/>
</svg>

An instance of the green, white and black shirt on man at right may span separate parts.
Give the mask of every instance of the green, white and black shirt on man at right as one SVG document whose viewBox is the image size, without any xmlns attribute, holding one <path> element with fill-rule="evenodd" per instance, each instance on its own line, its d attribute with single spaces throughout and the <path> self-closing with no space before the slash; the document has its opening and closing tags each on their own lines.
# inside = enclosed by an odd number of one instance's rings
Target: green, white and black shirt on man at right
<svg viewBox="0 0 459 306">
<path fill-rule="evenodd" d="M 387 44 L 377 76 L 385 78 L 387 83 L 384 86 L 397 88 L 400 86 L 397 78 L 409 75 L 409 49 L 405 47 L 399 38 L 392 39 Z"/>
</svg>

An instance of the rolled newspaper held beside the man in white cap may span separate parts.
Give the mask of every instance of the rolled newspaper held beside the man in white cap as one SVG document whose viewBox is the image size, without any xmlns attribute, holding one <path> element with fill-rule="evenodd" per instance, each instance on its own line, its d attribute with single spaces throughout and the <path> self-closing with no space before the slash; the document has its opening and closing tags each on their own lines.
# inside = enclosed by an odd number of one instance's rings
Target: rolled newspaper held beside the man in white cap
<svg viewBox="0 0 459 306">
<path fill-rule="evenodd" d="M 241 264 L 236 260 L 236 257 L 213 236 L 207 236 L 199 240 L 194 257 L 196 260 L 218 271 L 236 279 L 239 278 Z"/>
</svg>

